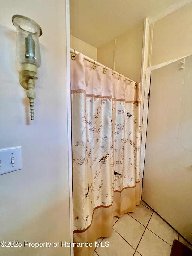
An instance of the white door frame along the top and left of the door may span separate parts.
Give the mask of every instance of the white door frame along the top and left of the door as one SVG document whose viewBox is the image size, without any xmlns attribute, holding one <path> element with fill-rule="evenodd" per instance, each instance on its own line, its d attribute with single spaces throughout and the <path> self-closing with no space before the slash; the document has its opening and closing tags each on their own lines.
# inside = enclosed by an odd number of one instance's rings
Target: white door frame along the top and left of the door
<svg viewBox="0 0 192 256">
<path fill-rule="evenodd" d="M 184 57 L 187 57 L 187 56 L 184 56 Z M 149 91 L 150 91 L 151 72 L 155 69 L 162 68 L 166 65 L 169 65 L 175 61 L 182 60 L 184 57 L 146 68 L 146 79 L 145 79 L 145 87 L 144 87 L 145 90 L 144 90 L 144 97 L 143 97 L 143 121 L 142 121 L 142 132 L 141 132 L 141 165 L 140 166 L 141 166 L 142 182 L 141 182 L 140 198 L 142 196 L 142 190 L 143 190 L 143 175 L 144 175 L 145 150 L 146 150 L 146 139 L 147 139 L 147 120 L 148 120 L 148 109 L 149 109 L 148 95 L 149 95 Z M 142 90 L 144 88 L 142 88 Z"/>
</svg>

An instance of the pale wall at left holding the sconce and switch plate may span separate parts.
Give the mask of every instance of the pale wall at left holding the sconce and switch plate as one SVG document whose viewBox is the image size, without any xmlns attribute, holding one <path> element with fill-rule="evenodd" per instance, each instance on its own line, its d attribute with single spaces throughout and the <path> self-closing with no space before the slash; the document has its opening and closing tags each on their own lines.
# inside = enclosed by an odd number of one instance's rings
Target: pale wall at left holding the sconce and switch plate
<svg viewBox="0 0 192 256">
<path fill-rule="evenodd" d="M 18 79 L 14 14 L 43 30 L 34 121 Z M 0 148 L 22 146 L 22 170 L 0 176 L 1 241 L 70 242 L 65 1 L 2 1 L 0 24 Z M 0 254 L 70 255 L 70 248 L 0 247 Z"/>
</svg>

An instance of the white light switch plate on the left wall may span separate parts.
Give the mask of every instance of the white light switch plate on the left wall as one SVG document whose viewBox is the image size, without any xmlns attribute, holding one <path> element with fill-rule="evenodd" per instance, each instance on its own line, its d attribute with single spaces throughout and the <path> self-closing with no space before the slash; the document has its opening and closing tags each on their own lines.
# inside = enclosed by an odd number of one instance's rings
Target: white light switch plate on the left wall
<svg viewBox="0 0 192 256">
<path fill-rule="evenodd" d="M 11 158 L 14 157 L 14 164 Z M 0 149 L 0 175 L 22 169 L 21 146 L 7 149 Z"/>
</svg>

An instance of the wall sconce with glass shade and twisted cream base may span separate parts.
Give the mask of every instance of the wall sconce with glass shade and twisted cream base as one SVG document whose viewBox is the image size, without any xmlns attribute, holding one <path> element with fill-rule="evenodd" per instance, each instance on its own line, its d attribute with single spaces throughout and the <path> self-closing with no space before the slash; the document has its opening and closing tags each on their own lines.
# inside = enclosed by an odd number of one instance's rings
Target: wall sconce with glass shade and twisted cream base
<svg viewBox="0 0 192 256">
<path fill-rule="evenodd" d="M 22 66 L 19 73 L 19 82 L 27 91 L 31 108 L 31 120 L 34 119 L 34 92 L 37 69 L 41 66 L 41 53 L 39 36 L 42 35 L 41 27 L 33 20 L 22 15 L 12 17 L 13 25 L 17 29 L 16 55 Z"/>
</svg>

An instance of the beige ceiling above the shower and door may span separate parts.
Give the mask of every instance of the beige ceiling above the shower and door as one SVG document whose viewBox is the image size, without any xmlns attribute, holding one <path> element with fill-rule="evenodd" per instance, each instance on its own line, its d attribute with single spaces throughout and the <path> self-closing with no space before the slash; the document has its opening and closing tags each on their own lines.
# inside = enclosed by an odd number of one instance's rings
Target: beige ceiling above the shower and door
<svg viewBox="0 0 192 256">
<path fill-rule="evenodd" d="M 192 0 L 70 0 L 70 34 L 98 48 L 134 25 L 149 23 Z"/>
</svg>

